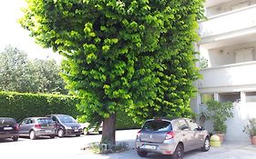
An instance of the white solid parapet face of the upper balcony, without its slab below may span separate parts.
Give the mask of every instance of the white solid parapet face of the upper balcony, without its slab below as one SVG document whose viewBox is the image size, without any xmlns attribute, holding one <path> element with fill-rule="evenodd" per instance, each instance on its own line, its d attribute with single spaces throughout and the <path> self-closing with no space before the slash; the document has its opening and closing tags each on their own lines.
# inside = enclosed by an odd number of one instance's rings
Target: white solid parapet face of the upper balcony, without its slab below
<svg viewBox="0 0 256 159">
<path fill-rule="evenodd" d="M 202 38 L 256 27 L 256 5 L 214 15 L 200 23 Z"/>
</svg>

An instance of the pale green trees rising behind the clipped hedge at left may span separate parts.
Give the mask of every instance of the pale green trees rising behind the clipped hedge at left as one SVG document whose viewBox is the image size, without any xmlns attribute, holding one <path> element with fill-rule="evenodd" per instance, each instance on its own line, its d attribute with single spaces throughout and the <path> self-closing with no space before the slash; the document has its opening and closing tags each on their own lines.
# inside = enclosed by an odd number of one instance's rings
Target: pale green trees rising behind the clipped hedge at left
<svg viewBox="0 0 256 159">
<path fill-rule="evenodd" d="M 27 93 L 67 94 L 54 60 L 28 59 L 26 53 L 8 45 L 0 54 L 0 90 Z"/>
</svg>

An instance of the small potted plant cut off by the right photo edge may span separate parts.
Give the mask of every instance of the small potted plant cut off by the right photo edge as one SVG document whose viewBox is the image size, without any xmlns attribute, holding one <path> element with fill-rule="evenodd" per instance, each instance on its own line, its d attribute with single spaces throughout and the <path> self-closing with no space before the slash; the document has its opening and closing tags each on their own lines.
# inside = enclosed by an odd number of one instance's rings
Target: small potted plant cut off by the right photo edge
<svg viewBox="0 0 256 159">
<path fill-rule="evenodd" d="M 250 135 L 251 144 L 256 144 L 256 118 L 249 119 L 248 124 L 244 126 L 243 132 Z"/>
</svg>

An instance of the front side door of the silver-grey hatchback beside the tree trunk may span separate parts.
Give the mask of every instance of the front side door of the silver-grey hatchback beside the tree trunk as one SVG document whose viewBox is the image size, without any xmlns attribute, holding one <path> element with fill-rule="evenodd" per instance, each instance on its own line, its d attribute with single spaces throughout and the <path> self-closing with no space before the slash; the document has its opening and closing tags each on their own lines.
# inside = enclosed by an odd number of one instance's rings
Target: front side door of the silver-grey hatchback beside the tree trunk
<svg viewBox="0 0 256 159">
<path fill-rule="evenodd" d="M 200 131 L 200 126 L 196 124 L 191 119 L 186 119 L 186 122 L 189 124 L 189 131 L 193 134 L 191 138 L 191 149 L 198 149 L 203 145 L 204 134 Z"/>
</svg>

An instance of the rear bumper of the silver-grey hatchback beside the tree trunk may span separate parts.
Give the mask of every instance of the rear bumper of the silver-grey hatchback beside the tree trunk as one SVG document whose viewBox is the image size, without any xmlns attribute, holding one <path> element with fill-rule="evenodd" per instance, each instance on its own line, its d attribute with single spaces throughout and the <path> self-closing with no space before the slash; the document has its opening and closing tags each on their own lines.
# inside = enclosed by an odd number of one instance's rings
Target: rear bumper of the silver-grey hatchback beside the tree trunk
<svg viewBox="0 0 256 159">
<path fill-rule="evenodd" d="M 174 140 L 165 140 L 164 143 L 148 143 L 137 140 L 136 148 L 138 151 L 159 154 L 173 154 L 176 148 Z"/>
</svg>

